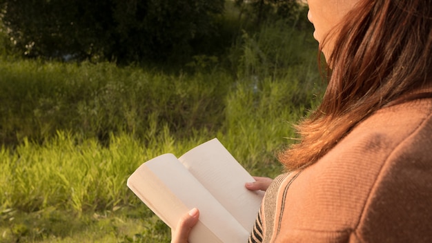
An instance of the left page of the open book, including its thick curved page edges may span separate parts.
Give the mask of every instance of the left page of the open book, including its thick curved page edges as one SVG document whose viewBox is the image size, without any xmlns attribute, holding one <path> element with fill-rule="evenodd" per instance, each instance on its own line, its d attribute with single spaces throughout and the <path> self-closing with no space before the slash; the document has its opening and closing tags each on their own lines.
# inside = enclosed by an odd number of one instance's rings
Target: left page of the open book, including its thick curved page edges
<svg viewBox="0 0 432 243">
<path fill-rule="evenodd" d="M 247 241 L 249 232 L 172 154 L 142 164 L 130 175 L 128 186 L 171 229 L 182 215 L 198 208 L 199 222 L 190 233 L 190 242 Z"/>
</svg>

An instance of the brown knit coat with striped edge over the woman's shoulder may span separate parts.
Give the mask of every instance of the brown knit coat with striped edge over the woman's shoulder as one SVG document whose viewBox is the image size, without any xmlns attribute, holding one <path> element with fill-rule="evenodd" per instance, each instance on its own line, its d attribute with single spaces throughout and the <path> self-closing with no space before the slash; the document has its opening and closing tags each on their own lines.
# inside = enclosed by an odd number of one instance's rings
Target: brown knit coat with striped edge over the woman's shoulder
<svg viewBox="0 0 432 243">
<path fill-rule="evenodd" d="M 432 242 L 431 113 L 430 98 L 383 108 L 277 177 L 250 242 Z"/>
</svg>

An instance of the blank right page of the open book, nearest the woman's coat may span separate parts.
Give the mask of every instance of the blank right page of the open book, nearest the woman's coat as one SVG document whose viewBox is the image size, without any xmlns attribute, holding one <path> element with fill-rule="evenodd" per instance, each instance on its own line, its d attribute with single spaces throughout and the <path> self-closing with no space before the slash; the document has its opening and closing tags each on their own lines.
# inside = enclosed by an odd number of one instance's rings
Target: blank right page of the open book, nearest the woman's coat
<svg viewBox="0 0 432 243">
<path fill-rule="evenodd" d="M 251 232 L 261 206 L 262 191 L 249 191 L 255 179 L 217 139 L 201 144 L 179 157 L 188 171 Z"/>
</svg>

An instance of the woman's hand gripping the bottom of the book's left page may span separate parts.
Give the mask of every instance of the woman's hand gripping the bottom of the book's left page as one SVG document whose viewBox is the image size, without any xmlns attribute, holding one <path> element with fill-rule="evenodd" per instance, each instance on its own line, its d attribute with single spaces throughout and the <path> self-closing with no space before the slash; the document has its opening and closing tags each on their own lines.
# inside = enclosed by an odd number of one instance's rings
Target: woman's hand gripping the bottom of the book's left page
<svg viewBox="0 0 432 243">
<path fill-rule="evenodd" d="M 188 243 L 189 233 L 193 226 L 197 224 L 199 211 L 192 208 L 187 214 L 183 215 L 177 222 L 177 227 L 171 230 L 171 243 Z"/>
</svg>

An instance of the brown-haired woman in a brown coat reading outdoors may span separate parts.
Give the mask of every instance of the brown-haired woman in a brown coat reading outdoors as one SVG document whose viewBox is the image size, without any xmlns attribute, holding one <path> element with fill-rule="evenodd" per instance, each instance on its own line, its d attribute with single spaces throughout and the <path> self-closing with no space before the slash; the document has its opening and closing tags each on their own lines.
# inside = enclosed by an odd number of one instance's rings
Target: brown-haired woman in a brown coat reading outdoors
<svg viewBox="0 0 432 243">
<path fill-rule="evenodd" d="M 246 185 L 266 190 L 249 242 L 432 242 L 431 2 L 308 5 L 331 77 L 279 156 L 290 173 Z"/>
</svg>

